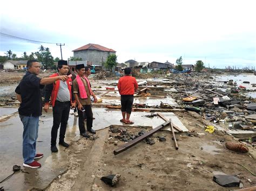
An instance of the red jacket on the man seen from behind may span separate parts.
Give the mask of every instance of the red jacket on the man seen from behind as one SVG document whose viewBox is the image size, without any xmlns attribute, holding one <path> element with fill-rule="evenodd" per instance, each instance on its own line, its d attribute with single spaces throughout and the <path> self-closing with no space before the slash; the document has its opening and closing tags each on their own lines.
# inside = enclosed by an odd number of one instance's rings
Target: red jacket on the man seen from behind
<svg viewBox="0 0 256 191">
<path fill-rule="evenodd" d="M 135 77 L 127 75 L 119 79 L 117 87 L 120 95 L 133 95 L 138 89 L 138 83 Z"/>
</svg>

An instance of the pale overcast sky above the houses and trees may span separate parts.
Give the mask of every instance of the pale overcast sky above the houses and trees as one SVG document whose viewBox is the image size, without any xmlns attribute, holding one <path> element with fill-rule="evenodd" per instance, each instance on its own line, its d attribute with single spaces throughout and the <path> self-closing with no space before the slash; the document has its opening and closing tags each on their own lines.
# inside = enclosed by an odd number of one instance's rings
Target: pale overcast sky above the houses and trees
<svg viewBox="0 0 256 191">
<path fill-rule="evenodd" d="M 256 66 L 255 1 L 2 1 L 2 33 L 49 43 L 65 43 L 63 59 L 86 44 L 114 49 L 118 62 L 208 67 Z M 41 44 L 0 36 L 0 55 L 21 56 Z M 49 47 L 60 58 L 59 46 Z"/>
</svg>

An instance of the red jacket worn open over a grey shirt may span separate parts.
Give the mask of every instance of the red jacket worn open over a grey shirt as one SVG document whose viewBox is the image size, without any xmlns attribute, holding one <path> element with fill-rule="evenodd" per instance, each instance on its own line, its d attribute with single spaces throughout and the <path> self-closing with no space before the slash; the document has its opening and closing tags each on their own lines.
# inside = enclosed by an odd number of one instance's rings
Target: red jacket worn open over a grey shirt
<svg viewBox="0 0 256 191">
<path fill-rule="evenodd" d="M 52 74 L 50 77 L 55 77 L 55 76 L 58 76 L 59 74 L 58 73 L 55 73 L 55 74 Z M 55 105 L 55 101 L 56 101 L 56 98 L 57 98 L 57 95 L 58 95 L 58 90 L 59 90 L 59 80 L 57 80 L 56 82 L 52 83 L 52 84 L 49 84 L 46 86 L 45 88 L 45 104 L 49 104 L 49 101 L 50 101 L 50 96 L 51 96 L 51 105 L 52 107 L 54 107 Z M 73 91 L 72 91 L 72 80 L 71 78 L 69 77 L 68 80 L 66 80 L 66 83 L 68 84 L 68 88 L 69 88 L 69 93 L 70 93 L 70 103 L 74 103 L 75 102 L 75 98 L 73 95 Z"/>
</svg>

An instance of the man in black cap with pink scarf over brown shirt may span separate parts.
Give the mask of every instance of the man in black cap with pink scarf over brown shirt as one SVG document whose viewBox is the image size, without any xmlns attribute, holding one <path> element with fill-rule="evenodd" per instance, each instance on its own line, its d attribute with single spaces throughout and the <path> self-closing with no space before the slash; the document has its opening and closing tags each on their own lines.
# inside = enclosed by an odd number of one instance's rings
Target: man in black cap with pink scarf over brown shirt
<svg viewBox="0 0 256 191">
<path fill-rule="evenodd" d="M 94 98 L 94 102 L 97 102 L 97 97 L 91 90 L 91 84 L 87 79 L 85 73 L 90 73 L 90 68 L 85 67 L 84 64 L 80 64 L 76 66 L 77 69 L 77 77 L 73 82 L 73 91 L 78 104 L 78 126 L 80 135 L 83 137 L 90 137 L 86 131 L 84 126 L 84 112 L 87 118 L 86 127 L 87 131 L 95 134 L 95 130 L 92 129 L 92 107 L 91 107 L 91 96 Z"/>
</svg>

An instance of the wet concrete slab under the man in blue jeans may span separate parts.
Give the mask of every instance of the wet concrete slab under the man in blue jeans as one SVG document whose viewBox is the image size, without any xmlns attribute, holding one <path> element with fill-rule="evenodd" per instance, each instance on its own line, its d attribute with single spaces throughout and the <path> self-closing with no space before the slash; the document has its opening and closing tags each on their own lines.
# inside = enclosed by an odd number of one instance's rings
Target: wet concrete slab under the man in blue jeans
<svg viewBox="0 0 256 191">
<path fill-rule="evenodd" d="M 2 110 L 2 108 L 0 109 Z M 70 143 L 72 139 L 79 138 L 79 130 L 77 128 L 77 120 L 73 120 L 70 116 L 68 129 L 66 132 L 66 141 Z M 22 132 L 23 125 L 19 116 L 11 117 L 7 121 L 1 122 L 0 128 L 0 180 L 6 178 L 12 173 L 12 166 L 22 166 Z M 43 189 L 56 178 L 57 175 L 66 171 L 68 167 L 68 156 L 64 152 L 64 147 L 59 147 L 58 153 L 51 153 L 52 114 L 46 114 L 40 117 L 39 133 L 37 139 L 37 151 L 43 153 L 44 157 L 38 161 L 42 164 L 41 168 L 30 169 L 25 168 L 29 174 L 18 172 L 10 179 L 1 183 L 0 186 L 10 190 L 27 190 L 33 187 Z M 22 168 L 24 168 L 22 166 Z"/>
</svg>

